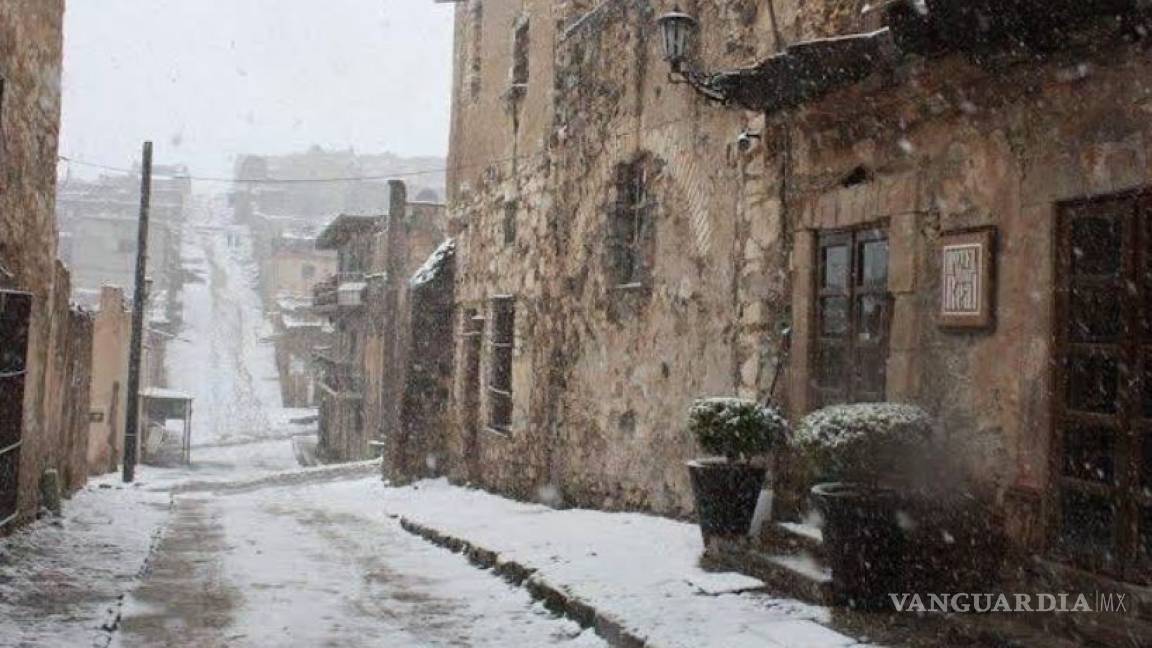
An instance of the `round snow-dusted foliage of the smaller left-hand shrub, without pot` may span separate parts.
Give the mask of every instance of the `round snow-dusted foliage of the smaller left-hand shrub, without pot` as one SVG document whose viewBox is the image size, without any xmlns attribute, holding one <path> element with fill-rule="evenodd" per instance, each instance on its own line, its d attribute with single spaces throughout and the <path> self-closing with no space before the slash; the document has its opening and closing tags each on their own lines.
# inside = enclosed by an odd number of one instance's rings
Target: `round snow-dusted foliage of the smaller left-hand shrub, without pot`
<svg viewBox="0 0 1152 648">
<path fill-rule="evenodd" d="M 688 428 L 705 452 L 746 460 L 788 436 L 788 421 L 770 406 L 740 398 L 702 398 L 688 410 Z"/>
</svg>

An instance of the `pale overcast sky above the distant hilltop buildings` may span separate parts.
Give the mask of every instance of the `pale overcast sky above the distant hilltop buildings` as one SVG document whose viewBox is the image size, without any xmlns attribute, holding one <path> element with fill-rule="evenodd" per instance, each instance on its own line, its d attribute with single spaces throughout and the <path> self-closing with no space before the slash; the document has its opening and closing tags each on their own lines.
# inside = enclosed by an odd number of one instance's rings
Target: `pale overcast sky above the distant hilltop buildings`
<svg viewBox="0 0 1152 648">
<path fill-rule="evenodd" d="M 237 153 L 313 143 L 362 152 L 447 151 L 453 5 L 67 6 L 63 156 L 128 166 L 151 138 L 158 164 L 183 161 L 197 174 L 230 175 Z"/>
</svg>

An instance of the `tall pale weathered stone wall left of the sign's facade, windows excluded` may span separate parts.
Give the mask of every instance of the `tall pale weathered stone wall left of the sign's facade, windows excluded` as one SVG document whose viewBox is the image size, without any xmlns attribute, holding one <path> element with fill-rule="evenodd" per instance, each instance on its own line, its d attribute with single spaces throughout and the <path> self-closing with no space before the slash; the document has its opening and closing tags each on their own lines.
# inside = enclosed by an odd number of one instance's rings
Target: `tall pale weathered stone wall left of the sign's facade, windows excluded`
<svg viewBox="0 0 1152 648">
<path fill-rule="evenodd" d="M 710 65 L 748 62 L 771 45 L 767 16 L 755 3 L 744 12 L 730 5 L 696 7 L 708 25 L 702 46 Z M 472 98 L 461 86 L 467 66 L 457 69 L 449 166 L 458 171 L 449 195 L 452 216 L 465 228 L 449 446 L 458 479 L 478 466 L 471 476 L 520 497 L 688 515 L 682 462 L 698 453 L 684 429 L 691 400 L 763 394 L 774 360 L 772 307 L 787 294 L 779 263 L 773 272 L 761 263 L 776 254 L 779 202 L 763 151 L 735 146 L 763 118 L 668 84 L 655 28 L 666 9 L 638 1 L 484 2 L 482 50 L 493 65 L 507 69 L 510 52 L 486 43 L 503 44 L 505 23 L 526 15 L 532 65 L 548 71 L 538 81 L 533 67 L 507 110 L 480 116 L 473 104 L 497 99 Z M 473 47 L 475 14 L 458 12 L 460 63 Z M 490 15 L 502 17 L 490 24 Z M 644 279 L 621 286 L 612 271 L 611 219 L 620 169 L 637 160 L 654 204 Z M 506 434 L 485 425 L 491 300 L 500 295 L 516 304 Z M 487 318 L 488 329 L 479 380 L 469 383 L 463 327 L 472 315 Z"/>
</svg>

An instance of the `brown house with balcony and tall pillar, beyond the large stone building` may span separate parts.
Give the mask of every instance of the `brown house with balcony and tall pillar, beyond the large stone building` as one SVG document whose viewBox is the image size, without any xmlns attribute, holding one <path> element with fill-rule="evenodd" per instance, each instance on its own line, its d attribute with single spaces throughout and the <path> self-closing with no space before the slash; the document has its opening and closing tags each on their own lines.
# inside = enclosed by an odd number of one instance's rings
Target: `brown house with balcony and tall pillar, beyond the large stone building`
<svg viewBox="0 0 1152 648">
<path fill-rule="evenodd" d="M 399 438 L 409 362 L 408 278 L 445 239 L 445 209 L 409 202 L 389 187 L 388 213 L 340 216 L 317 239 L 338 251 L 338 272 L 316 286 L 314 310 L 334 327 L 320 370 L 320 452 L 327 460 L 366 459 L 370 445 Z"/>
</svg>

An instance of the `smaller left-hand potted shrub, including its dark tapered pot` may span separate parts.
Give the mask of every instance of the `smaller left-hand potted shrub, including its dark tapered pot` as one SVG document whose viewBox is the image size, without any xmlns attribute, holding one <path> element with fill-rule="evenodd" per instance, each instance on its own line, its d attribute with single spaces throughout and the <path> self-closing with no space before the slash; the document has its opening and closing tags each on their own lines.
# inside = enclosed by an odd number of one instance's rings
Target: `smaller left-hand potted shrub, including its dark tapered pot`
<svg viewBox="0 0 1152 648">
<path fill-rule="evenodd" d="M 713 457 L 688 462 L 700 532 L 743 535 L 752 523 L 767 468 L 753 457 L 772 451 L 788 435 L 788 421 L 771 406 L 737 398 L 692 404 L 689 429 Z"/>
</svg>

